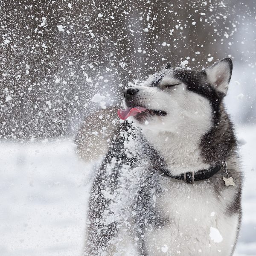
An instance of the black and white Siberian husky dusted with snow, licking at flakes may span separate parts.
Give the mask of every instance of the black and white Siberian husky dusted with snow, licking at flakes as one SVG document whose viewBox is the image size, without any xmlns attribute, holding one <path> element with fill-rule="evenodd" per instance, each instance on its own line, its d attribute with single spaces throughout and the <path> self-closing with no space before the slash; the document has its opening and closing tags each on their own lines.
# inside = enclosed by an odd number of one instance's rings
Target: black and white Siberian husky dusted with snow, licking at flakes
<svg viewBox="0 0 256 256">
<path fill-rule="evenodd" d="M 124 92 L 90 194 L 84 256 L 230 256 L 242 173 L 225 111 L 230 58 L 165 69 Z"/>
</svg>

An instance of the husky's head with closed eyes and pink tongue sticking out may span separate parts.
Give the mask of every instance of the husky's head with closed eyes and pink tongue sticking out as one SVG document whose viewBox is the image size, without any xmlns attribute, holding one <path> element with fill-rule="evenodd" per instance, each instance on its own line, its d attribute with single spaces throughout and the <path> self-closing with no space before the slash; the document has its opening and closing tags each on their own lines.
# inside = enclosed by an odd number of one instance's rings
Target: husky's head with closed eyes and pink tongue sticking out
<svg viewBox="0 0 256 256">
<path fill-rule="evenodd" d="M 131 116 L 138 126 L 154 131 L 179 132 L 188 126 L 207 131 L 218 125 L 231 74 L 230 58 L 201 71 L 167 65 L 140 86 L 125 90 L 125 110 L 119 110 L 119 117 Z"/>
</svg>

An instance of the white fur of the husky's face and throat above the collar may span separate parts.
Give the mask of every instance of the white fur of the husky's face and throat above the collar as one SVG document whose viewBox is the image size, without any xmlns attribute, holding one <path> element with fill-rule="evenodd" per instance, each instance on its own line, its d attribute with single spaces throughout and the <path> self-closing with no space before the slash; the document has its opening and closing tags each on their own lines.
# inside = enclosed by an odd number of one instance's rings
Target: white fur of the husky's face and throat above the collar
<svg viewBox="0 0 256 256">
<path fill-rule="evenodd" d="M 209 101 L 197 93 L 186 90 L 185 84 L 164 89 L 166 84 L 177 84 L 170 74 L 157 87 L 137 87 L 137 98 L 141 106 L 160 109 L 166 116 L 148 116 L 147 122 L 137 122 L 145 137 L 166 160 L 174 175 L 182 172 L 207 169 L 209 166 L 200 159 L 199 143 L 202 134 L 212 126 L 212 108 Z"/>
</svg>

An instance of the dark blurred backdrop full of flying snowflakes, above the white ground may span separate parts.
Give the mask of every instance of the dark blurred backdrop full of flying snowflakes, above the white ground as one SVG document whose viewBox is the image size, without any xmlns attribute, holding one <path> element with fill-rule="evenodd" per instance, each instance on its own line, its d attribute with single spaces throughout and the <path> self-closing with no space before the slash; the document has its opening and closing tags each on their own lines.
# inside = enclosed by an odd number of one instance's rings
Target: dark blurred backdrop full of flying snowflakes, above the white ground
<svg viewBox="0 0 256 256">
<path fill-rule="evenodd" d="M 129 81 L 161 70 L 166 62 L 176 67 L 184 56 L 199 69 L 227 56 L 233 58 L 241 86 L 250 86 L 237 104 L 246 107 L 242 121 L 255 119 L 250 104 L 255 91 L 255 0 L 236 6 L 228 1 L 226 7 L 221 0 L 181 1 L 180 6 L 165 1 L 160 9 L 157 1 L 30 2 L 37 4 L 6 1 L 0 15 L 4 74 L 0 74 L 0 84 L 13 90 L 12 102 L 5 102 L 5 95 L 0 102 L 8 112 L 6 127 L 0 123 L 2 137 L 26 140 L 30 134 L 40 138 L 70 135 L 86 114 L 81 106 L 90 107 L 93 94 L 113 90 L 111 100 L 116 102 Z M 214 60 L 206 63 L 209 53 Z M 241 70 L 237 70 L 239 65 Z M 54 83 L 57 78 L 67 84 Z M 29 96 L 28 87 L 33 88 Z M 81 95 L 76 102 L 73 93 Z M 49 96 L 52 109 L 41 115 Z M 30 104 L 35 99 L 37 109 Z M 9 116 L 20 116 L 18 127 Z M 37 122 L 30 122 L 34 116 Z"/>
</svg>

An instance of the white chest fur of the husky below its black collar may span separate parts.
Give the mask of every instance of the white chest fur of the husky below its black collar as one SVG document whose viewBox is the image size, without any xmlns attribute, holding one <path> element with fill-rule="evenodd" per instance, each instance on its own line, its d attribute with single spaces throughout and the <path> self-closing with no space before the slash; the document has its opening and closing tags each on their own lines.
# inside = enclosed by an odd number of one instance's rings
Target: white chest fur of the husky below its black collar
<svg viewBox="0 0 256 256">
<path fill-rule="evenodd" d="M 167 221 L 145 238 L 150 255 L 229 255 L 236 240 L 238 216 L 227 216 L 212 184 L 186 184 L 169 177 L 159 182 L 153 207 Z M 234 230 L 235 227 L 235 230 Z"/>
</svg>

